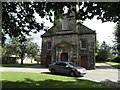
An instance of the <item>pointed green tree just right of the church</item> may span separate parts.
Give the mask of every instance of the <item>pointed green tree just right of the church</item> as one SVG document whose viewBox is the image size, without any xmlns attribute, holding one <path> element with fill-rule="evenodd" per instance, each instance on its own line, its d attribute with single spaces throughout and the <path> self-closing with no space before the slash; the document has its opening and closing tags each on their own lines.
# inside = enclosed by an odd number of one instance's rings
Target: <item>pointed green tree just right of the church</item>
<svg viewBox="0 0 120 90">
<path fill-rule="evenodd" d="M 106 44 L 105 41 L 101 44 L 98 52 L 98 58 L 100 61 L 106 61 L 111 57 L 111 47 Z"/>
</svg>

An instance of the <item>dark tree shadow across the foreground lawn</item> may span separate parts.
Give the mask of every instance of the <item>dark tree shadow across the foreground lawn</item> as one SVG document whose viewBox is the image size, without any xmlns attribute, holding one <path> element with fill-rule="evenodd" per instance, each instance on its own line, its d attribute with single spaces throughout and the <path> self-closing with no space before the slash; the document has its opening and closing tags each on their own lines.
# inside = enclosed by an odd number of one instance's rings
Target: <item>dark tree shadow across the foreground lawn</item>
<svg viewBox="0 0 120 90">
<path fill-rule="evenodd" d="M 34 81 L 25 78 L 24 81 L 6 81 L 2 82 L 2 88 L 110 88 L 101 83 L 89 80 L 76 79 L 75 81 L 61 81 L 46 79 L 43 81 Z"/>
</svg>

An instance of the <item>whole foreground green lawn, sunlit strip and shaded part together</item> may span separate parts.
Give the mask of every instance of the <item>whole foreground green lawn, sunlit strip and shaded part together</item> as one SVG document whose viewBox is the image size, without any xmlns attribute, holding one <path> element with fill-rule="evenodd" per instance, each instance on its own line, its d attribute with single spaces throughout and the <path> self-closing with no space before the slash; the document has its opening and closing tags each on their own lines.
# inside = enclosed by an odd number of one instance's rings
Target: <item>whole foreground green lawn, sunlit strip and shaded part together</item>
<svg viewBox="0 0 120 90">
<path fill-rule="evenodd" d="M 3 72 L 3 88 L 111 88 L 101 83 L 51 74 Z"/>
</svg>

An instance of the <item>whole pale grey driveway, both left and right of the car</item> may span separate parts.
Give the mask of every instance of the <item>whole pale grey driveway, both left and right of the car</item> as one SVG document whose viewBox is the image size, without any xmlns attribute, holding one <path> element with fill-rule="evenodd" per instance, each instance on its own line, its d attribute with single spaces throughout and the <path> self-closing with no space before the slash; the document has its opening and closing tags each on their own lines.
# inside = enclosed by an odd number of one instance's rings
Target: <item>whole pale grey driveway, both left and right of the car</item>
<svg viewBox="0 0 120 90">
<path fill-rule="evenodd" d="M 0 67 L 0 72 L 49 73 L 50 71 L 48 70 L 48 68 L 37 65 L 27 68 Z M 87 70 L 87 74 L 84 77 L 79 77 L 78 79 L 87 79 L 95 82 L 102 82 L 104 84 L 120 88 L 120 69 L 116 69 L 104 63 L 96 63 L 95 70 Z"/>
</svg>

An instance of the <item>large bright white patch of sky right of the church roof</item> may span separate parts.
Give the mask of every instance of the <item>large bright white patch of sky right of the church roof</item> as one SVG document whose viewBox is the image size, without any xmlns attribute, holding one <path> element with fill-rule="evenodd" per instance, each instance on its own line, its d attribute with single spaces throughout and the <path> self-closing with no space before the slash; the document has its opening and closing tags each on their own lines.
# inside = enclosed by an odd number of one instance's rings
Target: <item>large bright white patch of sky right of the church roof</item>
<svg viewBox="0 0 120 90">
<path fill-rule="evenodd" d="M 84 25 L 95 30 L 97 33 L 97 40 L 102 43 L 105 41 L 107 44 L 113 44 L 112 40 L 114 40 L 114 30 L 116 23 L 113 22 L 104 22 L 101 20 L 97 20 L 93 18 L 92 20 L 86 20 Z"/>
</svg>

